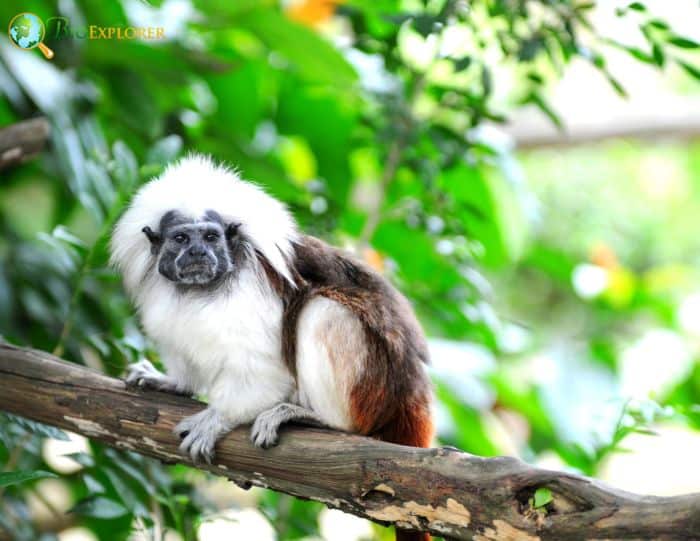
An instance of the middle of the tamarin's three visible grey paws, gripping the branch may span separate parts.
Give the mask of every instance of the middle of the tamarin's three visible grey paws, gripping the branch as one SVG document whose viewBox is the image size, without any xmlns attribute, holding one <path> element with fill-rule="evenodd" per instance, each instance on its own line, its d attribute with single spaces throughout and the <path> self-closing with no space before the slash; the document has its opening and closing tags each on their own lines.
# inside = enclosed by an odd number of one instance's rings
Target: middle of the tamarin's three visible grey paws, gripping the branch
<svg viewBox="0 0 700 541">
<path fill-rule="evenodd" d="M 182 440 L 180 452 L 189 455 L 194 462 L 214 458 L 216 442 L 231 426 L 212 408 L 207 408 L 190 417 L 185 417 L 175 427 L 175 434 Z"/>
</svg>

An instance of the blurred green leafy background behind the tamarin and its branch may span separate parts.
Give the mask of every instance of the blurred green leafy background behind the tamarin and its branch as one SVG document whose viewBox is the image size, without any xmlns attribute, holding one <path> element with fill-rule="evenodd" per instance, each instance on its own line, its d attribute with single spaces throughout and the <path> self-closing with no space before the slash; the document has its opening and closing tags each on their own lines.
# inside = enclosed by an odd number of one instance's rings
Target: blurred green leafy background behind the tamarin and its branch
<svg viewBox="0 0 700 541">
<path fill-rule="evenodd" d="M 696 3 L 11 0 L 0 21 L 21 12 L 55 57 L 0 36 L 0 127 L 51 136 L 0 171 L 2 339 L 115 376 L 157 360 L 106 241 L 196 150 L 409 297 L 440 444 L 700 490 Z M 391 535 L 0 417 L 0 539 Z"/>
</svg>

